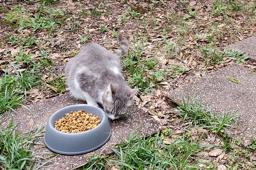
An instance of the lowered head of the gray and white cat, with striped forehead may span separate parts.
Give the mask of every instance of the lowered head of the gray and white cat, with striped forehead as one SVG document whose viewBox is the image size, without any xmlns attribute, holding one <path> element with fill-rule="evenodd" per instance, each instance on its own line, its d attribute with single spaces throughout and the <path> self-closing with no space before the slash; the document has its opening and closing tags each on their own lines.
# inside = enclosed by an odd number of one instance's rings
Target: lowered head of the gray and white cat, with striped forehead
<svg viewBox="0 0 256 170">
<path fill-rule="evenodd" d="M 112 120 L 125 117 L 137 91 L 136 88 L 131 89 L 128 86 L 121 88 L 118 84 L 109 83 L 102 95 L 102 104 L 107 117 Z"/>
</svg>

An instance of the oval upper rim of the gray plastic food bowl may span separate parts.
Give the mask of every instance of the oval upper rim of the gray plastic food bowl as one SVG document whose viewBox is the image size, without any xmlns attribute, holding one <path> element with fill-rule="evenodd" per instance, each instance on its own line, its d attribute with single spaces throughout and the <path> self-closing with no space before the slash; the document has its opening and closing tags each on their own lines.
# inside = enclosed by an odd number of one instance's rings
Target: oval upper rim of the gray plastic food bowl
<svg viewBox="0 0 256 170">
<path fill-rule="evenodd" d="M 62 135 L 65 135 L 65 134 L 67 134 L 67 135 L 81 135 L 81 134 L 85 134 L 86 132 L 88 133 L 89 131 L 90 131 L 90 132 L 95 131 L 96 128 L 99 128 L 100 126 L 103 126 L 102 123 L 99 123 L 99 125 L 97 125 L 97 126 L 94 127 L 93 129 L 90 129 L 90 130 L 88 130 L 88 131 L 84 131 L 84 132 L 81 132 L 81 133 L 64 133 L 64 132 L 61 132 L 61 131 L 55 129 L 54 126 L 52 126 L 52 123 L 51 123 L 51 122 L 52 122 L 52 119 L 53 119 L 53 116 L 56 115 L 57 113 L 61 112 L 61 111 L 64 110 L 65 108 L 74 107 L 74 106 L 86 106 L 86 107 L 89 106 L 89 107 L 97 108 L 97 109 L 99 110 L 99 112 L 101 112 L 101 113 L 103 114 L 101 122 L 106 121 L 105 119 L 108 119 L 107 116 L 106 116 L 106 114 L 105 114 L 105 112 L 104 112 L 104 111 L 102 110 L 102 108 L 100 108 L 100 107 L 93 106 L 93 105 L 89 105 L 89 104 L 73 104 L 73 105 L 69 105 L 69 106 L 66 106 L 66 107 L 63 107 L 63 108 L 57 110 L 56 112 L 54 112 L 54 113 L 50 116 L 50 118 L 49 118 L 49 120 L 48 120 L 48 122 L 50 123 L 50 129 L 53 129 L 54 131 L 56 131 L 57 133 L 61 133 Z M 84 110 L 84 109 L 83 109 L 83 110 Z M 84 111 L 85 111 L 85 110 L 84 110 Z M 65 114 L 67 114 L 67 113 L 65 113 Z M 64 114 L 64 116 L 65 116 L 65 114 Z M 56 120 L 56 121 L 57 121 L 57 120 Z M 107 120 L 107 121 L 108 121 L 108 120 Z"/>
</svg>

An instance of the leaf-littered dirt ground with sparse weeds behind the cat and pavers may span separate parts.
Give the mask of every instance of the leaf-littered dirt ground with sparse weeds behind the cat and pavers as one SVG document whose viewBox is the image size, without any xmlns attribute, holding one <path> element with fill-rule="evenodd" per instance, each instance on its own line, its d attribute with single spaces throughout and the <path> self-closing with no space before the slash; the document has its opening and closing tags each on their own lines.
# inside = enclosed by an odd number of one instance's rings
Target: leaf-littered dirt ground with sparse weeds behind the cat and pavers
<svg viewBox="0 0 256 170">
<path fill-rule="evenodd" d="M 14 74 L 14 67 L 30 69 L 31 60 L 40 63 L 40 83 L 27 92 L 25 104 L 64 93 L 68 59 L 88 42 L 116 50 L 117 32 L 122 32 L 131 44 L 122 57 L 123 73 L 140 90 L 136 106 L 174 134 L 187 124 L 168 106 L 165 94 L 236 63 L 239 56 L 231 59 L 223 48 L 256 35 L 254 0 L 0 0 L 0 18 L 0 76 L 7 70 Z M 238 64 L 256 71 L 256 63 Z M 220 140 L 206 135 L 207 143 Z M 231 159 L 230 154 L 221 157 Z M 211 159 L 218 162 L 219 155 Z"/>
</svg>

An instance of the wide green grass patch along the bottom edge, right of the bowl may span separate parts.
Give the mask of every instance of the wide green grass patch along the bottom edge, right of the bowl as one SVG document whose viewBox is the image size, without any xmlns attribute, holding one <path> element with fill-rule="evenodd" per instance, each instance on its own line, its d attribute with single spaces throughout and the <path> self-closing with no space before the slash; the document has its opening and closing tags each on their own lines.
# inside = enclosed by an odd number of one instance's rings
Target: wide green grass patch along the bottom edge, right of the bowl
<svg viewBox="0 0 256 170">
<path fill-rule="evenodd" d="M 113 146 L 114 155 L 110 157 L 92 157 L 87 159 L 88 165 L 83 170 L 110 169 L 117 167 L 122 170 L 166 170 L 166 169 L 205 169 L 197 166 L 200 156 L 197 154 L 206 147 L 202 146 L 199 137 L 180 137 L 173 140 L 171 144 L 163 143 L 159 133 L 154 137 L 139 137 L 129 135 L 122 144 Z"/>
</svg>

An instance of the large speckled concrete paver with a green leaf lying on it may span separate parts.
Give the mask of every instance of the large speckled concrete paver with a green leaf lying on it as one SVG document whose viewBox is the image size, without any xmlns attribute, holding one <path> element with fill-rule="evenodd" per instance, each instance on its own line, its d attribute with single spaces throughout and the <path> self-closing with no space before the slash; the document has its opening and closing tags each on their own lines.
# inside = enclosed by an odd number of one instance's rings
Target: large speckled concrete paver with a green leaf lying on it
<svg viewBox="0 0 256 170">
<path fill-rule="evenodd" d="M 227 78 L 235 78 L 241 83 L 234 83 Z M 212 108 L 217 114 L 223 111 L 240 111 L 239 129 L 229 128 L 226 133 L 236 134 L 233 137 L 244 137 L 242 143 L 246 146 L 256 134 L 256 73 L 239 65 L 230 65 L 215 71 L 192 83 L 170 91 L 166 99 L 182 103 L 181 94 L 198 97 L 204 106 Z"/>
</svg>

